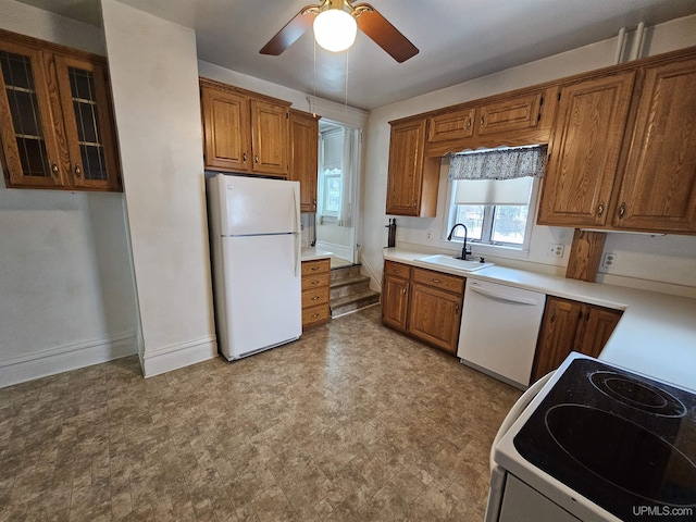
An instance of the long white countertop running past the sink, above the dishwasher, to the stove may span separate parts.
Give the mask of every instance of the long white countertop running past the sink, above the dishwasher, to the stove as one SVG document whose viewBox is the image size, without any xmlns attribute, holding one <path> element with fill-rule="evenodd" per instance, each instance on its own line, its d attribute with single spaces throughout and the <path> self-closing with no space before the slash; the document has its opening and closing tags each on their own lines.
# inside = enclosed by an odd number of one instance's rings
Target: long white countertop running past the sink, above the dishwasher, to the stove
<svg viewBox="0 0 696 522">
<path fill-rule="evenodd" d="M 428 256 L 384 249 L 384 259 L 623 310 L 600 359 L 696 390 L 696 299 L 505 266 L 475 272 L 418 261 Z"/>
</svg>

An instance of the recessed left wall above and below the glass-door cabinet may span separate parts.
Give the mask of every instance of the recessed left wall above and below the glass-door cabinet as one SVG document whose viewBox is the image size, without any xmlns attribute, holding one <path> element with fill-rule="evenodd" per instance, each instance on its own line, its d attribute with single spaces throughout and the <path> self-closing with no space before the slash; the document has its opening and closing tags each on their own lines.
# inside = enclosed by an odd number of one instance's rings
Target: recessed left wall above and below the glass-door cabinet
<svg viewBox="0 0 696 522">
<path fill-rule="evenodd" d="M 101 30 L 14 0 L 0 27 L 103 53 Z M 0 182 L 0 387 L 136 353 L 123 195 Z"/>
</svg>

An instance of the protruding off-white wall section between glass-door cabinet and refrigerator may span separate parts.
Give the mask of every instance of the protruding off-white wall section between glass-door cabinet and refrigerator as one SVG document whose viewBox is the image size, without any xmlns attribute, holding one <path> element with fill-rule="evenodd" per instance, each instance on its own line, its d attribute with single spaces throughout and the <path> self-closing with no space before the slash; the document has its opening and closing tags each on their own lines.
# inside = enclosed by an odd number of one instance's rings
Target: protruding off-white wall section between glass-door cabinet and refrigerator
<svg viewBox="0 0 696 522">
<path fill-rule="evenodd" d="M 196 35 L 102 0 L 146 376 L 215 357 Z"/>
</svg>

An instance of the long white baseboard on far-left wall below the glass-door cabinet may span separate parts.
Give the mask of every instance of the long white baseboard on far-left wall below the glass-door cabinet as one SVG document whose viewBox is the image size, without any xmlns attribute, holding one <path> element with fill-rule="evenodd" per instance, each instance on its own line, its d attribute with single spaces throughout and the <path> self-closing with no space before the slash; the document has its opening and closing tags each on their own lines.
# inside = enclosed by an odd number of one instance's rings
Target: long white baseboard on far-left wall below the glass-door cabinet
<svg viewBox="0 0 696 522">
<path fill-rule="evenodd" d="M 138 352 L 135 332 L 61 346 L 0 361 L 0 388 Z"/>
</svg>

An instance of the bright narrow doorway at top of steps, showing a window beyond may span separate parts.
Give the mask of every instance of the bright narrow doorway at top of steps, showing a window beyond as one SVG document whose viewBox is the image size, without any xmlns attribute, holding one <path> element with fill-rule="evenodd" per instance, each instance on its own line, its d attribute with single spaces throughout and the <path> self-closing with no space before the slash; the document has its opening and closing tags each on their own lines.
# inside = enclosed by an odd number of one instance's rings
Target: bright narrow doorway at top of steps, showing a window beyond
<svg viewBox="0 0 696 522">
<path fill-rule="evenodd" d="M 316 247 L 334 253 L 332 268 L 358 264 L 360 129 L 331 120 L 319 122 Z"/>
</svg>

